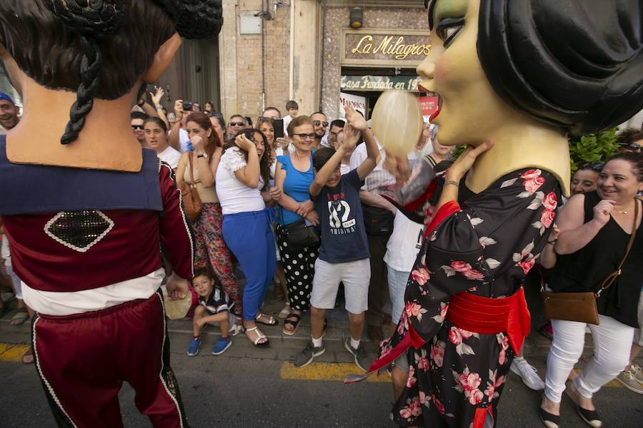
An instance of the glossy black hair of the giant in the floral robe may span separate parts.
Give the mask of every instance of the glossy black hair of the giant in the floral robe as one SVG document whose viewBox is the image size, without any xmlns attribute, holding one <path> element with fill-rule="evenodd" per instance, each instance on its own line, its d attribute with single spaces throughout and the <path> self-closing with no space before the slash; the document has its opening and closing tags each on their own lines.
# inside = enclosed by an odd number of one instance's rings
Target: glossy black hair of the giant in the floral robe
<svg viewBox="0 0 643 428">
<path fill-rule="evenodd" d="M 509 105 L 594 133 L 643 108 L 642 22 L 641 0 L 480 0 L 478 57 Z"/>
</svg>

